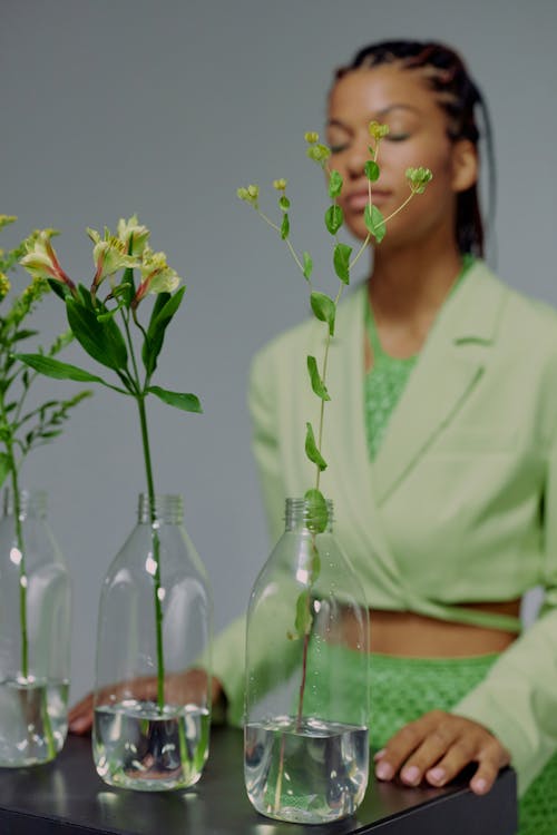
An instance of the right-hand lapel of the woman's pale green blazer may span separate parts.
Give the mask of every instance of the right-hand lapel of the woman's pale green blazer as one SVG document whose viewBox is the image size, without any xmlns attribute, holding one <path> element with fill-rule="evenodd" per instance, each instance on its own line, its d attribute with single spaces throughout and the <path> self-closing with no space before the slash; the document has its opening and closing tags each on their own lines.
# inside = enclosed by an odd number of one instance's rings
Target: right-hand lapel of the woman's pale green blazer
<svg viewBox="0 0 557 835">
<path fill-rule="evenodd" d="M 478 384 L 505 293 L 505 285 L 478 262 L 446 301 L 372 464 L 378 503 L 416 465 Z"/>
</svg>

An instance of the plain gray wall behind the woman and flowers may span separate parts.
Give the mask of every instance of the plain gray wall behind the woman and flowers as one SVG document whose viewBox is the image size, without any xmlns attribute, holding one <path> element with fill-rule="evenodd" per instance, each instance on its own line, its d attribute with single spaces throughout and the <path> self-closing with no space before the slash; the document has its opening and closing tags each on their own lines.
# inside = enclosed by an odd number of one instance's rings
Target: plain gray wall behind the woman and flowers
<svg viewBox="0 0 557 835">
<path fill-rule="evenodd" d="M 88 282 L 85 227 L 114 228 L 137 212 L 186 279 L 155 382 L 197 393 L 205 414 L 153 403 L 152 444 L 158 490 L 185 497 L 217 628 L 244 608 L 268 552 L 245 405 L 250 357 L 306 305 L 286 252 L 236 187 L 290 179 L 293 237 L 314 253 L 326 288 L 323 186 L 303 132 L 323 124 L 331 70 L 372 40 L 446 40 L 491 107 L 498 269 L 557 303 L 556 31 L 555 0 L 0 0 L 0 212 L 20 218 L 2 246 L 56 227 L 63 266 Z M 62 314 L 55 298 L 42 305 L 45 340 L 65 327 Z M 86 364 L 75 346 L 65 358 Z M 23 473 L 49 491 L 74 576 L 72 698 L 92 681 L 101 578 L 143 490 L 138 431 L 133 402 L 99 390 Z"/>
</svg>

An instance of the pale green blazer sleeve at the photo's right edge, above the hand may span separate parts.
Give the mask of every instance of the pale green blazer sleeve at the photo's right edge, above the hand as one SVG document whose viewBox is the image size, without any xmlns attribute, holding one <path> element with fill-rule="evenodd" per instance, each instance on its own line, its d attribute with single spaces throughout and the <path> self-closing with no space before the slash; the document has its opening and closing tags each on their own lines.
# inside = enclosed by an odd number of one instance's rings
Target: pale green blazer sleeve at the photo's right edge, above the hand
<svg viewBox="0 0 557 835">
<path fill-rule="evenodd" d="M 545 600 L 538 619 L 502 652 L 486 679 L 453 708 L 510 750 L 519 794 L 557 752 L 557 441 L 544 495 Z"/>
</svg>

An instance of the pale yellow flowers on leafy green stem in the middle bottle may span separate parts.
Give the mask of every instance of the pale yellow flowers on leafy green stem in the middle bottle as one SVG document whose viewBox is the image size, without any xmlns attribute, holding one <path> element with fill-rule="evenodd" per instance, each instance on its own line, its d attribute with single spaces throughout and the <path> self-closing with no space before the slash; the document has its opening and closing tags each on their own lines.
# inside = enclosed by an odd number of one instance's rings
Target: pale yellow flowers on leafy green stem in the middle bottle
<svg viewBox="0 0 557 835">
<path fill-rule="evenodd" d="M 90 288 L 74 284 L 62 271 L 50 245 L 49 235 L 46 233 L 39 235 L 32 246 L 28 247 L 27 254 L 21 258 L 21 264 L 32 275 L 48 281 L 56 295 L 65 302 L 68 324 L 76 341 L 105 372 L 108 370 L 116 374 L 123 387 L 113 385 L 105 380 L 105 376 L 91 374 L 76 365 L 61 363 L 51 355 L 20 354 L 18 358 L 40 374 L 56 380 L 98 383 L 126 396 L 133 396 L 137 403 L 153 543 L 157 706 L 162 713 L 165 704 L 165 658 L 160 537 L 157 528 L 146 399 L 149 394 L 154 394 L 164 403 L 184 412 L 202 412 L 201 403 L 195 394 L 168 391 L 150 384 L 163 348 L 166 328 L 180 306 L 185 287 L 178 288 L 180 279 L 177 273 L 168 266 L 166 255 L 153 252 L 147 243 L 150 233 L 146 226 L 139 224 L 136 215 L 128 220 L 120 218 L 116 235 L 113 235 L 106 227 L 104 236 L 95 229 L 88 229 L 88 235 L 94 243 L 92 255 L 96 265 Z M 136 269 L 140 273 L 137 286 L 134 281 Z M 121 273 L 120 281 L 114 277 L 118 273 Z M 101 284 L 107 277 L 110 277 L 110 288 L 101 299 Z M 154 294 L 156 301 L 152 307 L 148 325 L 144 327 L 138 317 L 138 307 L 144 304 L 144 299 L 149 294 Z M 109 308 L 109 302 L 115 302 L 115 306 L 111 305 Z M 133 333 L 131 322 L 137 326 L 137 332 Z M 138 362 L 139 352 L 136 351 L 134 337 L 137 337 L 141 348 L 140 357 L 145 372 L 143 383 Z"/>
</svg>

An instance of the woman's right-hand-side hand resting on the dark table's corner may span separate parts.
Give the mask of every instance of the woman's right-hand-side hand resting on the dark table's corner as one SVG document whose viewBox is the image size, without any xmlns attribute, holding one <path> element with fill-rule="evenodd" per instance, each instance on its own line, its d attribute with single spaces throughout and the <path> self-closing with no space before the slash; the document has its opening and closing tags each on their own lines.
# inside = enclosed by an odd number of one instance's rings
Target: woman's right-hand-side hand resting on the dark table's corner
<svg viewBox="0 0 557 835">
<path fill-rule="evenodd" d="M 477 763 L 470 788 L 477 795 L 489 792 L 499 768 L 509 765 L 510 754 L 487 728 L 462 716 L 431 710 L 405 725 L 375 754 L 375 776 L 390 780 L 400 772 L 408 786 L 426 779 L 444 786 L 465 766 Z"/>
</svg>

